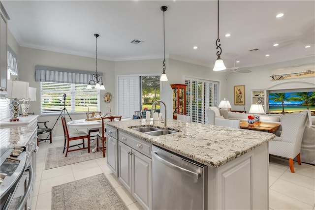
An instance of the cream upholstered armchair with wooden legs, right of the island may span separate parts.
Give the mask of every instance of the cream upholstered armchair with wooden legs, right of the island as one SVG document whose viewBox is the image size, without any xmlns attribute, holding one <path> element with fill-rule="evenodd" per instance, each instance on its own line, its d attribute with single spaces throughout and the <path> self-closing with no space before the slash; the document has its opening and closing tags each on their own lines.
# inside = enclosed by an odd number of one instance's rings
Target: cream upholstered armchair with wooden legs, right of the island
<svg viewBox="0 0 315 210">
<path fill-rule="evenodd" d="M 289 158 L 289 166 L 294 173 L 293 158 L 301 165 L 301 142 L 308 119 L 307 112 L 285 114 L 281 117 L 282 133 L 269 142 L 269 154 Z"/>
</svg>

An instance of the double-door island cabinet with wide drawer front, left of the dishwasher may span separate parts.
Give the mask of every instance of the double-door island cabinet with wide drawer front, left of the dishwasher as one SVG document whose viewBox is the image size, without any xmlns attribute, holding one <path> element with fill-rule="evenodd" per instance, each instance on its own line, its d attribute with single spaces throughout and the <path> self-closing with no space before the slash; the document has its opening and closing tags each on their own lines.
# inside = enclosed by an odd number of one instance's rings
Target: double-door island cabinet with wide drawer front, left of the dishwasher
<svg viewBox="0 0 315 210">
<path fill-rule="evenodd" d="M 118 179 L 144 209 L 152 209 L 152 145 L 119 131 Z"/>
</svg>

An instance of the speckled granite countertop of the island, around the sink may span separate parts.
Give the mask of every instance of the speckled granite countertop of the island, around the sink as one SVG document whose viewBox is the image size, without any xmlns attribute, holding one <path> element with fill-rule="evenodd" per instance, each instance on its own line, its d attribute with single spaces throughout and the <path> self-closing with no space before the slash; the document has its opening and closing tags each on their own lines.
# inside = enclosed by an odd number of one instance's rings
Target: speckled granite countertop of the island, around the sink
<svg viewBox="0 0 315 210">
<path fill-rule="evenodd" d="M 108 122 L 107 124 L 153 145 L 214 168 L 275 138 L 273 133 L 268 132 L 181 120 L 167 120 L 167 128 L 161 121 L 153 122 L 145 119 Z M 180 132 L 151 136 L 129 128 L 144 125 Z"/>
</svg>

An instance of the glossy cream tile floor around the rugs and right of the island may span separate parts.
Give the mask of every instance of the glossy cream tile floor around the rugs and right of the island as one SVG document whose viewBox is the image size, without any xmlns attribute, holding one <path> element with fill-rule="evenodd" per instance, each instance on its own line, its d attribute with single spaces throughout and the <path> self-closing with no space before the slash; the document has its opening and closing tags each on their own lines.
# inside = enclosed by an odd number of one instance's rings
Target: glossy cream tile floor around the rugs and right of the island
<svg viewBox="0 0 315 210">
<path fill-rule="evenodd" d="M 106 158 L 44 170 L 48 148 L 62 147 L 63 141 L 39 143 L 37 177 L 32 197 L 33 210 L 51 209 L 51 187 L 104 173 L 130 210 L 142 210 L 106 165 Z M 315 166 L 294 162 L 292 174 L 288 161 L 270 157 L 269 210 L 315 210 Z"/>
</svg>

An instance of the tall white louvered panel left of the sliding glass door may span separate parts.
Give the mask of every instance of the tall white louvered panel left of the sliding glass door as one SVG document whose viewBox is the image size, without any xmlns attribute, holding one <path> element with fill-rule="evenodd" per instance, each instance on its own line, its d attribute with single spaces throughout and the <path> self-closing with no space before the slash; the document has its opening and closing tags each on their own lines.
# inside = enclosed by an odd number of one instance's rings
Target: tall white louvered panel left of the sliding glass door
<svg viewBox="0 0 315 210">
<path fill-rule="evenodd" d="M 140 108 L 140 76 L 118 76 L 118 115 L 132 117 Z"/>
</svg>

